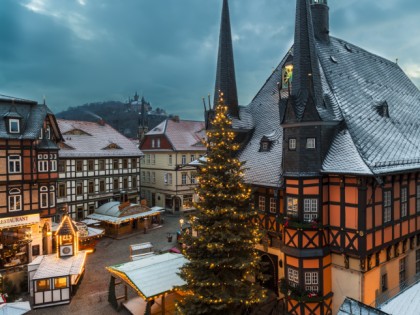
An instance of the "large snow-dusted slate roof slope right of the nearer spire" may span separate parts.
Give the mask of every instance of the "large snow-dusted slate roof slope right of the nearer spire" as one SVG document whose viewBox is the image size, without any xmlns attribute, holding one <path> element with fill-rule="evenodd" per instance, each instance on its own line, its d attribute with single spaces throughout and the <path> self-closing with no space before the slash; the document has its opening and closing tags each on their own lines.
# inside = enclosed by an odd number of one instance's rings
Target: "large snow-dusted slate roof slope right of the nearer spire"
<svg viewBox="0 0 420 315">
<path fill-rule="evenodd" d="M 402 69 L 333 37 L 329 45 L 317 42 L 317 48 L 326 83 L 358 153 L 353 162 L 361 158 L 374 174 L 420 168 L 420 92 Z M 389 118 L 378 113 L 383 102 Z M 323 170 L 340 167 L 351 173 L 352 165 L 346 167 L 339 150 L 331 148 Z"/>
</svg>

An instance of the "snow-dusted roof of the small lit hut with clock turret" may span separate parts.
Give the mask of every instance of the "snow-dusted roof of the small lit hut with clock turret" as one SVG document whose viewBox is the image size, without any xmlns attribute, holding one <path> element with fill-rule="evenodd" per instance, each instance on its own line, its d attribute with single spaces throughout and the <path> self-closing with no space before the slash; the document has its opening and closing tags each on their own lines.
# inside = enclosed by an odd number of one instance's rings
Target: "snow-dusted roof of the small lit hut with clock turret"
<svg viewBox="0 0 420 315">
<path fill-rule="evenodd" d="M 77 255 L 69 257 L 57 257 L 56 254 L 42 255 L 35 258 L 29 266 L 39 265 L 33 280 L 79 275 L 82 273 L 86 251 L 79 251 Z"/>
</svg>

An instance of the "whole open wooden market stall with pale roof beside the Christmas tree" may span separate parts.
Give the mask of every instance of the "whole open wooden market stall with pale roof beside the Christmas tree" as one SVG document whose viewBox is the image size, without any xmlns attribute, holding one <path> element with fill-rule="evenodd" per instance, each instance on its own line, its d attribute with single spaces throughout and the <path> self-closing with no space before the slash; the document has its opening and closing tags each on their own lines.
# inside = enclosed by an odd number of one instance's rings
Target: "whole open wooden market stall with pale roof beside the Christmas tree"
<svg viewBox="0 0 420 315">
<path fill-rule="evenodd" d="M 173 314 L 175 300 L 182 293 L 175 288 L 185 284 L 180 268 L 187 262 L 183 255 L 166 253 L 106 267 L 111 273 L 108 301 L 118 308 L 118 301 L 124 300 L 122 305 L 132 314 L 143 315 L 148 304 L 151 314 Z M 116 286 L 120 284 L 124 285 L 124 295 L 117 297 Z M 127 287 L 139 297 L 128 300 Z"/>
</svg>

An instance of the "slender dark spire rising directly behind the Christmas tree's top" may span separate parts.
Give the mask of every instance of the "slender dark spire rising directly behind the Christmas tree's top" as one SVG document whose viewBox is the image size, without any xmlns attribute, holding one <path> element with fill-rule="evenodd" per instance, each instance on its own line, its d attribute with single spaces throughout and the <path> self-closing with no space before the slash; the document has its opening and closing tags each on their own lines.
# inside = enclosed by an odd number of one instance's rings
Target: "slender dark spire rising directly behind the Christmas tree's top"
<svg viewBox="0 0 420 315">
<path fill-rule="evenodd" d="M 228 0 L 223 0 L 214 106 L 218 104 L 219 92 L 223 92 L 225 95 L 225 103 L 229 108 L 229 114 L 234 117 L 239 117 Z"/>
</svg>

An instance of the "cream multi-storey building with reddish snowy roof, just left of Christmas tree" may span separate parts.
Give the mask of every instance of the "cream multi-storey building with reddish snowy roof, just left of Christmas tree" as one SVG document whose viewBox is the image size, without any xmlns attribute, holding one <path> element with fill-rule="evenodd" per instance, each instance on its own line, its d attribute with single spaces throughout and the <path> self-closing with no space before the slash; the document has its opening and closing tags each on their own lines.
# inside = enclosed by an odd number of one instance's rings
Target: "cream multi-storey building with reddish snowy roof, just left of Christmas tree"
<svg viewBox="0 0 420 315">
<path fill-rule="evenodd" d="M 204 122 L 167 119 L 140 144 L 141 192 L 148 205 L 171 212 L 193 210 L 196 170 L 188 164 L 203 156 Z"/>
</svg>

